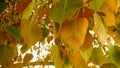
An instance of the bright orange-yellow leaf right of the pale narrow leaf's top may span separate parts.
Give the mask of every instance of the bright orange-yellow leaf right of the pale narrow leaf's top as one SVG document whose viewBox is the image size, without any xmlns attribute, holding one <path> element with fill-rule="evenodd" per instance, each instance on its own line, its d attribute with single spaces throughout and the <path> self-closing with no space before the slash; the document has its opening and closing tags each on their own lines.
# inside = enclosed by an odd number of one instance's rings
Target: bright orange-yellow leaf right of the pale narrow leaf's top
<svg viewBox="0 0 120 68">
<path fill-rule="evenodd" d="M 104 12 L 106 16 L 103 17 L 106 26 L 115 26 L 115 16 L 111 11 Z"/>
</svg>

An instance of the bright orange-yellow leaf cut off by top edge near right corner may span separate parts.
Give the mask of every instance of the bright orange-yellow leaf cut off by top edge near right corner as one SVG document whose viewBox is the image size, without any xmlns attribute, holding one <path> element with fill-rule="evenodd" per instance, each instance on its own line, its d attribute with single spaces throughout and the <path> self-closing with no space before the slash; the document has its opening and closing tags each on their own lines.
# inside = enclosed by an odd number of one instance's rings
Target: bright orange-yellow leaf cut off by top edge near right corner
<svg viewBox="0 0 120 68">
<path fill-rule="evenodd" d="M 111 11 L 118 10 L 118 0 L 106 0 L 106 5 L 109 7 Z"/>
</svg>

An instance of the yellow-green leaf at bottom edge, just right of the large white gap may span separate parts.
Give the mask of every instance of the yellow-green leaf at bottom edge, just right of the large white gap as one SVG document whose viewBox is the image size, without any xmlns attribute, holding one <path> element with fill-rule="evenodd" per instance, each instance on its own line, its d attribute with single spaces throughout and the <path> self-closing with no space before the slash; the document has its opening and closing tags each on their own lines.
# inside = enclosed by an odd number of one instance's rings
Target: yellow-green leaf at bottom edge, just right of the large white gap
<svg viewBox="0 0 120 68">
<path fill-rule="evenodd" d="M 51 47 L 51 53 L 54 61 L 55 68 L 62 68 L 64 60 L 60 56 L 60 50 L 57 46 Z"/>
</svg>

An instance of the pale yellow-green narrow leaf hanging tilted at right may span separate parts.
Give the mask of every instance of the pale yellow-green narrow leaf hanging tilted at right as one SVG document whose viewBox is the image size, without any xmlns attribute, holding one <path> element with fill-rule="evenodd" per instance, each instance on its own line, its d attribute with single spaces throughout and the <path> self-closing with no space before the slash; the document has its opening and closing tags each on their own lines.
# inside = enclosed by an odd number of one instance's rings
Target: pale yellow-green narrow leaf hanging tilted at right
<svg viewBox="0 0 120 68">
<path fill-rule="evenodd" d="M 98 14 L 94 14 L 94 24 L 98 33 L 98 38 L 102 44 L 107 41 L 107 32 L 101 17 Z"/>
</svg>

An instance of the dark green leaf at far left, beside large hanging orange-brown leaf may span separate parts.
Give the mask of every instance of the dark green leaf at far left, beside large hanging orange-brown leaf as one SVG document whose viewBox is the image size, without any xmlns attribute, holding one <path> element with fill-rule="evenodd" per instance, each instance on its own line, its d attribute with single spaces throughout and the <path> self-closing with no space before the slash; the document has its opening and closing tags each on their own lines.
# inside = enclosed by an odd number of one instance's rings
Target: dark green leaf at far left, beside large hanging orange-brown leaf
<svg viewBox="0 0 120 68">
<path fill-rule="evenodd" d="M 16 40 L 20 41 L 22 39 L 20 29 L 16 26 L 7 26 L 7 32 L 14 37 Z"/>
</svg>

